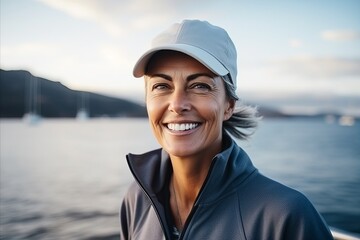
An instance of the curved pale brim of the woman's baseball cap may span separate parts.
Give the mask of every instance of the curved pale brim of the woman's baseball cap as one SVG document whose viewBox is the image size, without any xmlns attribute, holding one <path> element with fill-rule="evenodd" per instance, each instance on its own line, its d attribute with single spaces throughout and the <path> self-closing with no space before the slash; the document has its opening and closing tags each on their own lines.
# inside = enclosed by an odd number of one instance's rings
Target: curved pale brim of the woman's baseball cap
<svg viewBox="0 0 360 240">
<path fill-rule="evenodd" d="M 161 50 L 172 50 L 185 53 L 190 57 L 193 57 L 205 67 L 210 69 L 212 72 L 219 76 L 225 76 L 229 71 L 210 53 L 202 50 L 201 48 L 194 47 L 186 44 L 170 44 L 161 47 L 152 48 L 144 53 L 139 60 L 136 62 L 133 70 L 134 77 L 142 77 L 145 75 L 146 66 L 150 58 L 158 51 Z"/>
</svg>

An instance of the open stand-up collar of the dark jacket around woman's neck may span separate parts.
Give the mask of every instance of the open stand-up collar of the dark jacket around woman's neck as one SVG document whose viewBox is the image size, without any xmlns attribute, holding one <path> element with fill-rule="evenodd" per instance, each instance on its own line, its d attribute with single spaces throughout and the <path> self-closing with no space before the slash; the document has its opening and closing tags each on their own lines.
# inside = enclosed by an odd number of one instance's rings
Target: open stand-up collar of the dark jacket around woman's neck
<svg viewBox="0 0 360 240">
<path fill-rule="evenodd" d="M 224 134 L 223 140 L 224 150 L 214 157 L 195 204 L 210 204 L 226 197 L 257 171 L 245 151 L 229 135 Z M 135 179 L 148 196 L 160 200 L 159 194 L 168 185 L 172 173 L 169 155 L 157 149 L 141 155 L 128 154 L 127 159 Z"/>
</svg>

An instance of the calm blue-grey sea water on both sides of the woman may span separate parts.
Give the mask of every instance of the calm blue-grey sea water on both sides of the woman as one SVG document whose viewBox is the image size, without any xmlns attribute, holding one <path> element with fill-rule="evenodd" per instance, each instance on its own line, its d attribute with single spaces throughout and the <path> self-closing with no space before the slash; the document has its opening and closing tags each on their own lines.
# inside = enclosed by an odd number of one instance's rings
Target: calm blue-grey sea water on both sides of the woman
<svg viewBox="0 0 360 240">
<path fill-rule="evenodd" d="M 360 232 L 360 123 L 265 119 L 239 141 L 263 174 Z M 159 145 L 146 119 L 0 121 L 0 239 L 118 239 L 125 155 Z"/>
</svg>

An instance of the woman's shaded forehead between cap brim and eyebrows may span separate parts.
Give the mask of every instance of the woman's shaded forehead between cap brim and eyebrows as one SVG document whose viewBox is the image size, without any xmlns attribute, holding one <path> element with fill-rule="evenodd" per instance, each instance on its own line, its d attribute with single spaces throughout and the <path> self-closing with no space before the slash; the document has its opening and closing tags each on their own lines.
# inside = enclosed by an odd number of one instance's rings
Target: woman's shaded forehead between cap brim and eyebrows
<svg viewBox="0 0 360 240">
<path fill-rule="evenodd" d="M 159 51 L 149 60 L 146 75 L 164 71 L 203 72 L 215 75 L 196 59 L 176 51 Z"/>
</svg>

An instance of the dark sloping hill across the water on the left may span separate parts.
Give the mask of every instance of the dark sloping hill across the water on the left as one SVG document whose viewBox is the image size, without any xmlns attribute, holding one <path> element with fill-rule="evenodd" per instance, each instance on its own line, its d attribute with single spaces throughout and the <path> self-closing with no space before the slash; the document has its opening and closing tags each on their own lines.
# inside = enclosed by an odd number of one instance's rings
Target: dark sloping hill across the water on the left
<svg viewBox="0 0 360 240">
<path fill-rule="evenodd" d="M 30 111 L 45 118 L 74 118 L 82 108 L 89 117 L 147 117 L 145 107 L 132 101 L 72 90 L 28 71 L 0 70 L 1 118 L 22 118 Z"/>
</svg>

